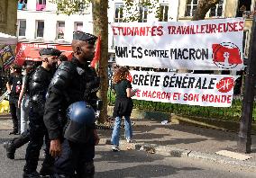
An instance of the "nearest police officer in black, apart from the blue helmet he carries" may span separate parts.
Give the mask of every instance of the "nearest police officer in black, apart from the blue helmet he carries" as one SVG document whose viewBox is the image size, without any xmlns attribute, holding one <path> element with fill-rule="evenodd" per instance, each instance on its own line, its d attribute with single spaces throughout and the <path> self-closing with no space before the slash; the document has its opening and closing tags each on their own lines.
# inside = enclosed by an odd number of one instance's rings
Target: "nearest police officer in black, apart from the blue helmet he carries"
<svg viewBox="0 0 256 178">
<path fill-rule="evenodd" d="M 95 145 L 99 141 L 95 124 L 87 125 L 86 128 L 80 125 L 81 128 L 71 130 L 81 137 L 69 139 L 64 137 L 63 132 L 67 131 L 65 129 L 72 129 L 69 127 L 69 118 L 64 113 L 70 104 L 85 101 L 99 110 L 96 108 L 99 78 L 96 76 L 95 69 L 89 67 L 90 61 L 94 58 L 96 39 L 96 36 L 89 33 L 74 32 L 73 58 L 71 61 L 60 64 L 49 86 L 43 120 L 49 132 L 50 154 L 58 156 L 54 165 L 55 177 L 68 178 L 77 173 L 78 178 L 86 178 L 94 177 L 95 174 L 93 159 Z M 63 117 L 56 120 L 59 112 L 63 113 L 60 114 Z"/>
</svg>

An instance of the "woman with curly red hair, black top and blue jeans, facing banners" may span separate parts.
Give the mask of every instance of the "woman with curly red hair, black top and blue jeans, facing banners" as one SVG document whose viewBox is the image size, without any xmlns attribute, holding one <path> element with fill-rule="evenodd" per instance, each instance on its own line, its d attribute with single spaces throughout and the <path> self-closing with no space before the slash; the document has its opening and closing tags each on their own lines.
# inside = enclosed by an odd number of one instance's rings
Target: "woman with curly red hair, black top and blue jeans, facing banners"
<svg viewBox="0 0 256 178">
<path fill-rule="evenodd" d="M 113 151 L 120 151 L 119 138 L 120 138 L 120 126 L 122 118 L 124 117 L 124 129 L 125 138 L 127 142 L 131 142 L 133 137 L 133 129 L 130 120 L 131 113 L 133 111 L 133 100 L 131 97 L 136 93 L 132 90 L 132 85 L 127 76 L 129 76 L 129 70 L 126 67 L 118 68 L 113 77 L 114 91 L 116 93 L 114 102 L 113 116 L 115 118 L 114 129 L 112 132 L 111 143 L 113 144 Z"/>
</svg>

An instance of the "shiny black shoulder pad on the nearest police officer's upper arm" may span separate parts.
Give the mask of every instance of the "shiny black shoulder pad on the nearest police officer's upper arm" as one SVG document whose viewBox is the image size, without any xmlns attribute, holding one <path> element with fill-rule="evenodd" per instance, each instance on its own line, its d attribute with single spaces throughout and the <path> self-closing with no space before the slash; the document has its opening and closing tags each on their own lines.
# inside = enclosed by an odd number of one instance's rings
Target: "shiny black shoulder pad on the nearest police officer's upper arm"
<svg viewBox="0 0 256 178">
<path fill-rule="evenodd" d="M 69 85 L 75 72 L 76 66 L 73 63 L 69 61 L 62 62 L 51 79 L 49 89 L 55 93 L 62 93 Z"/>
</svg>

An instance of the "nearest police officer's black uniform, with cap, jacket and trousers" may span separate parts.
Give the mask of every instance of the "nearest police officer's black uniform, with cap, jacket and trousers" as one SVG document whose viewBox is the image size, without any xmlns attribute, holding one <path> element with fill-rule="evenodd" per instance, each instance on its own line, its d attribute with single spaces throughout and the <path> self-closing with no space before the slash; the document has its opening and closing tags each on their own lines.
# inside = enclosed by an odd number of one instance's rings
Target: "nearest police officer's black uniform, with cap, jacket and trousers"
<svg viewBox="0 0 256 178">
<path fill-rule="evenodd" d="M 96 37 L 87 33 L 77 32 L 74 39 L 95 42 Z M 69 105 L 74 102 L 86 101 L 96 107 L 96 92 L 99 88 L 99 78 L 96 71 L 88 65 L 81 64 L 77 58 L 62 62 L 58 67 L 49 86 L 49 97 L 45 104 L 44 123 L 50 139 L 61 139 L 61 156 L 55 160 L 56 177 L 93 177 L 95 174 L 95 125 L 87 128 L 83 140 L 70 141 L 63 138 L 63 129 L 67 118 L 58 120 L 59 112 L 66 113 Z M 64 116 L 65 114 L 62 114 Z"/>
</svg>

